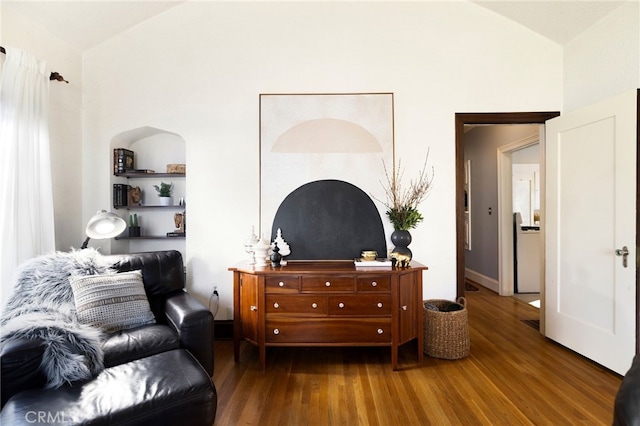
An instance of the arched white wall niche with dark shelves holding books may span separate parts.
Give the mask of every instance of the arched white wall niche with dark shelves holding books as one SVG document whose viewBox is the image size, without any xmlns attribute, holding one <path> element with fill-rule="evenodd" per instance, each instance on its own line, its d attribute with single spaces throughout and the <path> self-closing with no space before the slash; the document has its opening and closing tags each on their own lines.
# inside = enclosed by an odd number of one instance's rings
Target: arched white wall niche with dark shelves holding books
<svg viewBox="0 0 640 426">
<path fill-rule="evenodd" d="M 186 255 L 186 150 L 178 134 L 153 127 L 131 129 L 111 140 L 112 209 L 132 228 L 116 237 L 112 252 L 175 249 Z M 169 205 L 161 203 L 156 186 L 172 186 Z M 135 219 L 136 225 L 131 225 Z M 131 235 L 131 236 L 129 236 Z M 140 236 L 135 236 L 140 235 Z"/>
</svg>

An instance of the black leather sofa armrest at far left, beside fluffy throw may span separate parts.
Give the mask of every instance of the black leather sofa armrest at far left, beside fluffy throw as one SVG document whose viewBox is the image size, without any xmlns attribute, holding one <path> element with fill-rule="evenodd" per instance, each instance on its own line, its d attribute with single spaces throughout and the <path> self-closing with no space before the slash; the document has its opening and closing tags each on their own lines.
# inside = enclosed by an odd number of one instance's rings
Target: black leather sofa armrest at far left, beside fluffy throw
<svg viewBox="0 0 640 426">
<path fill-rule="evenodd" d="M 0 407 L 9 398 L 26 389 L 41 388 L 46 378 L 40 370 L 44 346 L 37 339 L 11 339 L 2 343 L 0 352 Z"/>
</svg>

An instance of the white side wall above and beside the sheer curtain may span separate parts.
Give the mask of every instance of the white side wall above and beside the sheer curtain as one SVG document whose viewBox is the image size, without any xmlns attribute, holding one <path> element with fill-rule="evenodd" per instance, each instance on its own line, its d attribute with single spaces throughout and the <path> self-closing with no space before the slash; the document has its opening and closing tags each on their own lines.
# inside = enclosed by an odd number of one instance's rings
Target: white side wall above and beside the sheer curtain
<svg viewBox="0 0 640 426">
<path fill-rule="evenodd" d="M 45 60 L 50 71 L 59 72 L 69 81 L 69 84 L 52 81 L 49 94 L 56 249 L 66 251 L 72 246 L 80 247 L 86 224 L 80 209 L 82 55 L 10 6 L 0 4 L 0 10 L 0 45 L 31 52 Z"/>
</svg>

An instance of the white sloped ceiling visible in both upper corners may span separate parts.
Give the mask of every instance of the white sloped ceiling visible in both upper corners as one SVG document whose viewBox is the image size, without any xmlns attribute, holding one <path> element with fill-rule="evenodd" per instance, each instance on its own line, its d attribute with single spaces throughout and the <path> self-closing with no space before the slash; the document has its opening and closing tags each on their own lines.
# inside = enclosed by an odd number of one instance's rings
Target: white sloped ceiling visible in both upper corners
<svg viewBox="0 0 640 426">
<path fill-rule="evenodd" d="M 14 9 L 29 17 L 51 34 L 84 51 L 184 1 L 187 0 L 3 0 L 2 7 Z M 511 19 L 560 45 L 567 44 L 625 3 L 619 0 L 469 1 Z"/>
</svg>

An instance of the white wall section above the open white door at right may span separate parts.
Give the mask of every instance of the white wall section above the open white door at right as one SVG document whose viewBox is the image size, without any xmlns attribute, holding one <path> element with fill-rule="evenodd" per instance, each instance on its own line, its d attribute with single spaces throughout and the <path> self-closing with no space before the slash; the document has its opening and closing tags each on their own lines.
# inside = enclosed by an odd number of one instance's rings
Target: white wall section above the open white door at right
<svg viewBox="0 0 640 426">
<path fill-rule="evenodd" d="M 628 1 L 564 49 L 564 112 L 640 88 L 640 2 Z"/>
</svg>

